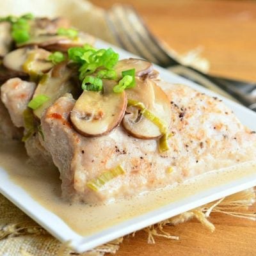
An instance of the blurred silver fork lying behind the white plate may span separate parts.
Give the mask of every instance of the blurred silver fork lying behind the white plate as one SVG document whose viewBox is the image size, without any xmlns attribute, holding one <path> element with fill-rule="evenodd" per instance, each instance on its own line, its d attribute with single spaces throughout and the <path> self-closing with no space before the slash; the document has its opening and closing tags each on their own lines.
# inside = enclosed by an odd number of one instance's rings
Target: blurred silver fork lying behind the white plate
<svg viewBox="0 0 256 256">
<path fill-rule="evenodd" d="M 127 4 L 115 4 L 106 13 L 106 20 L 116 42 L 130 51 L 161 67 L 168 68 L 191 81 L 238 101 L 256 111 L 256 83 L 237 81 L 204 74 L 175 60 L 170 51 L 152 35 L 136 10 Z"/>
</svg>

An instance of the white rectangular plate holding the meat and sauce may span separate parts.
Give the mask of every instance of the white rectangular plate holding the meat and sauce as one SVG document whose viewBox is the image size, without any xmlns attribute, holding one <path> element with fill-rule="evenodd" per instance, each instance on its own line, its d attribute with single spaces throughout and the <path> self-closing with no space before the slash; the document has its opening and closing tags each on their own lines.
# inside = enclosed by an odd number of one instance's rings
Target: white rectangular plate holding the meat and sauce
<svg viewBox="0 0 256 256">
<path fill-rule="evenodd" d="M 132 54 L 100 40 L 97 41 L 96 47 L 113 47 L 113 49 L 120 53 L 121 58 L 130 58 L 132 56 Z M 187 84 L 200 92 L 204 92 L 212 96 L 218 96 L 220 99 L 223 99 L 225 104 L 234 111 L 244 125 L 250 127 L 250 129 L 256 130 L 256 113 L 253 111 L 250 111 L 235 102 L 227 100 L 220 95 L 216 95 L 216 93 L 210 92 L 198 84 L 176 76 L 168 70 L 164 70 L 157 66 L 156 69 L 160 72 L 161 78 L 165 81 Z M 246 167 L 246 164 L 244 164 L 244 166 Z M 211 173 L 207 175 L 211 175 Z M 88 236 L 81 236 L 77 234 L 74 230 L 68 227 L 68 225 L 61 220 L 59 216 L 40 205 L 29 195 L 28 191 L 24 190 L 10 179 L 8 172 L 3 168 L 0 168 L 0 192 L 60 241 L 70 241 L 70 246 L 74 250 L 77 252 L 84 252 L 85 250 L 90 250 L 95 246 L 129 234 L 135 230 L 139 230 L 143 227 L 147 227 L 148 225 L 157 223 L 158 221 L 180 214 L 181 212 L 207 204 L 208 202 L 212 202 L 213 200 L 217 200 L 223 196 L 231 195 L 232 193 L 256 186 L 256 170 L 255 172 L 248 172 L 248 175 L 233 176 L 234 179 L 227 179 L 227 182 L 224 184 L 220 182 L 218 186 L 203 189 L 195 193 L 188 193 L 186 196 L 180 197 L 179 200 L 170 200 L 167 204 L 156 207 L 155 209 L 150 209 L 147 212 L 143 212 L 143 214 L 138 214 L 137 216 L 134 215 L 131 218 L 126 218 L 126 220 L 119 222 L 116 221 L 115 224 L 104 227 L 101 230 L 98 228 Z M 188 183 L 189 182 L 186 182 L 184 186 L 188 186 Z M 111 206 L 109 206 L 109 209 L 110 208 Z M 102 219 L 104 219 L 104 214 L 106 213 L 102 212 Z M 86 218 L 84 221 L 86 221 Z"/>
</svg>

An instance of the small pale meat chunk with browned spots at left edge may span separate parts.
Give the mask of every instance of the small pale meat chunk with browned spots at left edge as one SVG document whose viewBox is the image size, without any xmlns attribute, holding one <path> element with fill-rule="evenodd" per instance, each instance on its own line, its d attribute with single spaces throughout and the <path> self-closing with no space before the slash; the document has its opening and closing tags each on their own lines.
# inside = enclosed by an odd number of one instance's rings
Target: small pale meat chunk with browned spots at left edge
<svg viewBox="0 0 256 256">
<path fill-rule="evenodd" d="M 23 111 L 27 108 L 36 88 L 33 82 L 12 78 L 1 86 L 1 100 L 9 111 L 12 122 L 17 127 L 24 127 Z"/>
</svg>

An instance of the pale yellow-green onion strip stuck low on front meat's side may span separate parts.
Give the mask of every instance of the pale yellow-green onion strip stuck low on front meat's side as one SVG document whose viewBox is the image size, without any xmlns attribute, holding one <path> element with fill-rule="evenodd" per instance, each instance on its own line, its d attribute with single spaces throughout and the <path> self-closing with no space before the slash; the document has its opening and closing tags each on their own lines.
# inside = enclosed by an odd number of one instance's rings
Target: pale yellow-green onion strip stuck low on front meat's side
<svg viewBox="0 0 256 256">
<path fill-rule="evenodd" d="M 116 168 L 103 172 L 99 175 L 99 177 L 90 180 L 86 185 L 88 188 L 92 189 L 93 191 L 99 191 L 102 186 L 104 186 L 110 180 L 115 179 L 119 175 L 124 174 L 125 171 L 122 166 L 118 165 Z"/>
</svg>

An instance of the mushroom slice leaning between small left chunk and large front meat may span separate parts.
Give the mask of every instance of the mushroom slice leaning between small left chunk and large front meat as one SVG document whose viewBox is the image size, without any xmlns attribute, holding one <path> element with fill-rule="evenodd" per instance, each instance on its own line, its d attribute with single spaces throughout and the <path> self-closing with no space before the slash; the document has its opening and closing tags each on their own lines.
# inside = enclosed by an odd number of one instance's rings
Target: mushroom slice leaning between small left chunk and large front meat
<svg viewBox="0 0 256 256">
<path fill-rule="evenodd" d="M 62 62 L 52 68 L 42 77 L 36 87 L 33 99 L 38 95 L 49 97 L 49 100 L 34 110 L 34 114 L 37 118 L 41 118 L 44 110 L 51 106 L 56 99 L 74 90 L 73 84 L 69 81 L 72 76 L 72 70 L 70 70 L 66 64 L 67 63 Z"/>
</svg>

